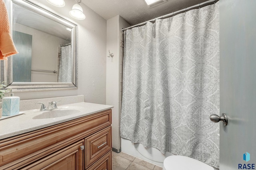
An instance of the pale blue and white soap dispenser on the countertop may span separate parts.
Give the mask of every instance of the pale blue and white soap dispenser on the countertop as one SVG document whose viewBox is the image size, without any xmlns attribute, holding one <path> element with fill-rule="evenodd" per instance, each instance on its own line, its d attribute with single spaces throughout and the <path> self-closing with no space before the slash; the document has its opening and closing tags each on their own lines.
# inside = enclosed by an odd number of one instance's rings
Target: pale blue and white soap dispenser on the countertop
<svg viewBox="0 0 256 170">
<path fill-rule="evenodd" d="M 2 115 L 12 116 L 20 113 L 20 97 L 14 96 L 12 89 L 8 97 L 2 98 Z"/>
</svg>

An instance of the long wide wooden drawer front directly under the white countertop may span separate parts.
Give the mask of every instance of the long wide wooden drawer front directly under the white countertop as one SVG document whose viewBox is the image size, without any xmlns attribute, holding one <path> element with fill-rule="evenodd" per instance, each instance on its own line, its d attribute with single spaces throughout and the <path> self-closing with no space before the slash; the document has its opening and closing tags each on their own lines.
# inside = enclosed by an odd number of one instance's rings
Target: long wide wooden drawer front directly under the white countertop
<svg viewBox="0 0 256 170">
<path fill-rule="evenodd" d="M 30 164 L 111 125 L 111 110 L 0 140 L 0 169 Z"/>
</svg>

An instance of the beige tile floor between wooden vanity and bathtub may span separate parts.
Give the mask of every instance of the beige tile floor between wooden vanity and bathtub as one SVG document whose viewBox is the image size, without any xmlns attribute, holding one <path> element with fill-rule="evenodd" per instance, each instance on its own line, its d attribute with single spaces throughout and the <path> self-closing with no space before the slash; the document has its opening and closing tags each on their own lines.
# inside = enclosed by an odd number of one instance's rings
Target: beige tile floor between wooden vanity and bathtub
<svg viewBox="0 0 256 170">
<path fill-rule="evenodd" d="M 124 152 L 112 151 L 112 170 L 162 170 L 162 168 Z"/>
</svg>

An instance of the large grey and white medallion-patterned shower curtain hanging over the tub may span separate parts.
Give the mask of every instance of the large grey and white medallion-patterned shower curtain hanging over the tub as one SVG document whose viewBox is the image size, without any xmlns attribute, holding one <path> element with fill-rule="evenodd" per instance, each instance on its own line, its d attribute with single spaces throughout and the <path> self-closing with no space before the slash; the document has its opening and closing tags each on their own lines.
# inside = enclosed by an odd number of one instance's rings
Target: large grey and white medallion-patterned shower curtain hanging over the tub
<svg viewBox="0 0 256 170">
<path fill-rule="evenodd" d="M 219 167 L 219 4 L 126 30 L 121 137 Z"/>
</svg>

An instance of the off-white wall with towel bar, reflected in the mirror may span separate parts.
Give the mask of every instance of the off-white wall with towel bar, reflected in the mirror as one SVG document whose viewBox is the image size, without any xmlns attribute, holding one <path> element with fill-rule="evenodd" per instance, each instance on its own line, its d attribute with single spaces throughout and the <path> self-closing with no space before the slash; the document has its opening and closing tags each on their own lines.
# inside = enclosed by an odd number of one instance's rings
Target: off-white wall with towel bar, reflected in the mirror
<svg viewBox="0 0 256 170">
<path fill-rule="evenodd" d="M 32 69 L 58 71 L 58 47 L 69 41 L 19 23 L 13 25 L 13 30 L 32 35 Z M 31 82 L 58 82 L 58 74 L 32 71 Z"/>
</svg>

